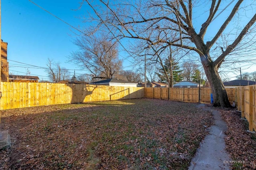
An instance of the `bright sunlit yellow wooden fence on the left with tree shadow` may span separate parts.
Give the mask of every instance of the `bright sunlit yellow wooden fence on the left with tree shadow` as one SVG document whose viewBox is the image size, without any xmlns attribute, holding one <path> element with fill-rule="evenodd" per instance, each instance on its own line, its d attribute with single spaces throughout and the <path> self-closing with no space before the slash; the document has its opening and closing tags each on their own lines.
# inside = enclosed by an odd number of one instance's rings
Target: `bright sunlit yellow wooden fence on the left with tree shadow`
<svg viewBox="0 0 256 170">
<path fill-rule="evenodd" d="M 144 88 L 86 84 L 1 82 L 0 109 L 143 98 Z"/>
</svg>

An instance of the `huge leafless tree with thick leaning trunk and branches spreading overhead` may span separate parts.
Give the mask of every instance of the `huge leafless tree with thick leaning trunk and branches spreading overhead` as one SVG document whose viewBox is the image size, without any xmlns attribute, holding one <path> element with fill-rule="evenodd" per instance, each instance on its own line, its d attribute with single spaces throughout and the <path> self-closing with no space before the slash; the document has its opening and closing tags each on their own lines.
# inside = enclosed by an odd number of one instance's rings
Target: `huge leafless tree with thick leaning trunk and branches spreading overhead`
<svg viewBox="0 0 256 170">
<path fill-rule="evenodd" d="M 203 3 L 192 0 L 138 0 L 135 2 L 99 0 L 98 6 L 93 6 L 89 0 L 83 2 L 86 2 L 98 17 L 94 18 L 96 19 L 94 21 L 98 21 L 96 29 L 102 27 L 108 30 L 117 40 L 141 39 L 147 41 L 149 46 L 162 44 L 196 52 L 212 88 L 213 106 L 230 107 L 218 70 L 228 55 L 238 53 L 243 47 L 250 47 L 248 44 L 255 41 L 253 34 L 250 34 L 256 21 L 256 14 L 253 10 L 255 1 L 250 2 L 248 6 L 246 6 L 247 2 L 242 4 L 243 0 L 237 0 L 234 5 L 232 3 L 221 4 L 221 0 Z M 231 4 L 232 10 L 217 29 L 217 33 L 206 41 L 204 36 L 212 25 L 212 21 L 224 11 L 220 11 L 220 6 L 225 5 L 227 8 Z M 237 23 L 240 22 L 240 17 L 248 12 L 247 7 L 253 12 L 253 16 L 251 18 L 248 16 L 249 20 L 241 27 L 242 24 Z M 208 8 L 204 14 L 208 17 L 204 21 L 200 20 L 202 23 L 200 30 L 194 27 L 194 23 L 199 22 L 196 20 L 198 16 L 192 16 L 193 11 L 199 8 L 205 10 Z M 228 37 L 229 41 L 225 45 L 220 40 L 222 35 L 228 32 L 228 25 L 232 23 L 231 21 L 237 21 L 236 26 L 231 30 L 235 34 Z M 251 41 L 245 41 L 244 37 Z M 214 49 L 216 52 L 211 56 Z"/>
</svg>

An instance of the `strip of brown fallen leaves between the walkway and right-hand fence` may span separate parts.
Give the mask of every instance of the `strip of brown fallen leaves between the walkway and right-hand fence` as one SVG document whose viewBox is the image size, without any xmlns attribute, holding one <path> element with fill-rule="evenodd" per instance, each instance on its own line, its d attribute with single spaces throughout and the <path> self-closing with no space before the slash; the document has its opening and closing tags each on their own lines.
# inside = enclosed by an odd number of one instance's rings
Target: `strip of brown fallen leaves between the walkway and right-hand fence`
<svg viewBox="0 0 256 170">
<path fill-rule="evenodd" d="M 248 133 L 248 121 L 241 119 L 241 113 L 235 110 L 220 111 L 227 123 L 226 150 L 230 153 L 232 169 L 256 169 L 256 134 Z"/>
</svg>

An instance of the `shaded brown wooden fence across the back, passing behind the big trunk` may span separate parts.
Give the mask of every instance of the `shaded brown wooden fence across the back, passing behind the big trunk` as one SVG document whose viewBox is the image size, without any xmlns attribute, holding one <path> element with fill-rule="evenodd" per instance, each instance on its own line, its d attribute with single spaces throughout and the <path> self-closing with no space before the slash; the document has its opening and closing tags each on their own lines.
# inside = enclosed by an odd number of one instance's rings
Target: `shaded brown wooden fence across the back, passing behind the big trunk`
<svg viewBox="0 0 256 170">
<path fill-rule="evenodd" d="M 228 100 L 231 104 L 235 101 L 235 90 L 235 88 L 226 88 Z M 211 88 L 200 88 L 200 91 L 199 88 L 146 88 L 145 98 L 175 100 L 180 102 L 210 103 L 211 93 Z"/>
</svg>

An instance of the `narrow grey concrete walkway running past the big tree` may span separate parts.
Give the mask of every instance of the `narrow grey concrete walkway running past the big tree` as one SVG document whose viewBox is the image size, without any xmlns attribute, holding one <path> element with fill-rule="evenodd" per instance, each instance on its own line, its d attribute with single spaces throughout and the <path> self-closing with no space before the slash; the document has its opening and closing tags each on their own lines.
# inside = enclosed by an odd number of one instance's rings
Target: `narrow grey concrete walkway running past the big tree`
<svg viewBox="0 0 256 170">
<path fill-rule="evenodd" d="M 188 170 L 228 170 L 230 166 L 225 161 L 229 161 L 230 158 L 225 151 L 224 141 L 226 137 L 224 132 L 227 129 L 226 122 L 222 120 L 217 110 L 205 107 L 204 104 L 200 104 L 198 107 L 212 111 L 215 121 L 214 125 L 209 128 L 209 134 L 200 143 Z"/>
</svg>

